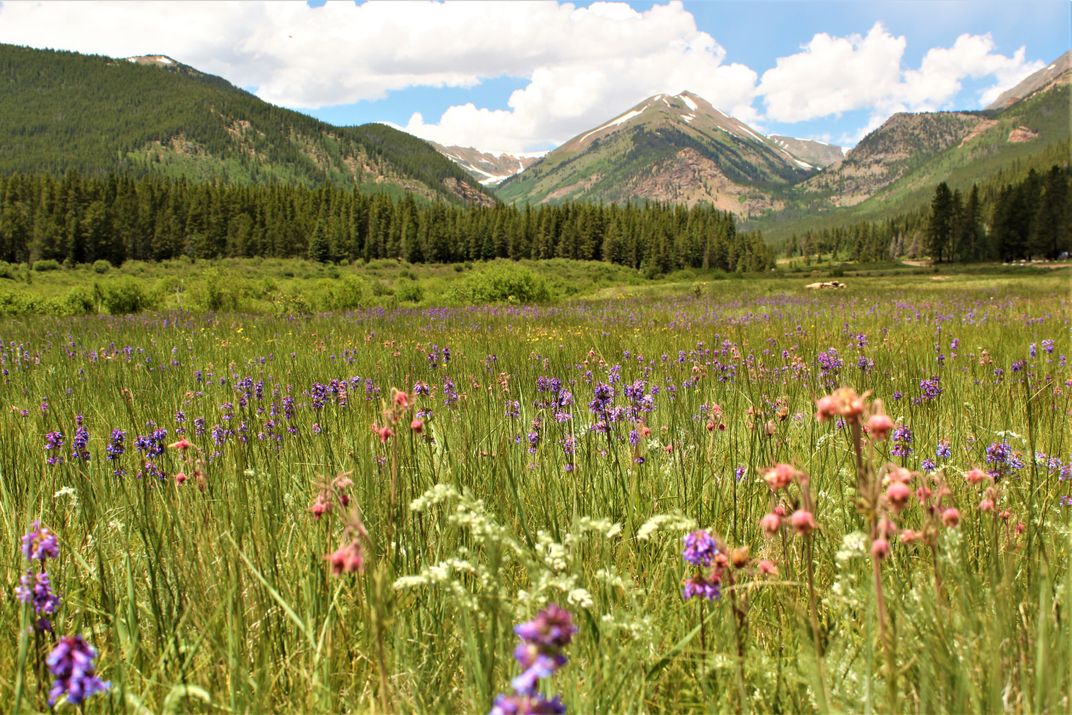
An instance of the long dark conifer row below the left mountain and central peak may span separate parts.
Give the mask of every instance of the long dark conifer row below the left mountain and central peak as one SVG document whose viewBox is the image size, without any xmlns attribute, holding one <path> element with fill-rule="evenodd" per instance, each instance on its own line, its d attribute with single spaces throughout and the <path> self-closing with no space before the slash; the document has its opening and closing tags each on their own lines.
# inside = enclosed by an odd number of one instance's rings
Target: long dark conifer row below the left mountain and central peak
<svg viewBox="0 0 1072 715">
<path fill-rule="evenodd" d="M 517 208 L 418 203 L 325 184 L 236 185 L 158 175 L 0 177 L 0 259 L 71 264 L 177 256 L 606 260 L 661 273 L 766 270 L 730 213 L 662 204 Z"/>
</svg>

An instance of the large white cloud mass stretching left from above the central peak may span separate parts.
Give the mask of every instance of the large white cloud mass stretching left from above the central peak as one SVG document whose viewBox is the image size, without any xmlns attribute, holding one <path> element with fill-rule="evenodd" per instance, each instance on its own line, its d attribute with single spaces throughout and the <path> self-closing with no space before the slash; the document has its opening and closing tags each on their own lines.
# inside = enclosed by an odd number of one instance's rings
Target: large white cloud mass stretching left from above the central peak
<svg viewBox="0 0 1072 715">
<path fill-rule="evenodd" d="M 406 87 L 528 84 L 507 109 L 463 104 L 407 129 L 519 151 L 562 141 L 657 92 L 690 89 L 749 118 L 757 75 L 680 2 L 42 2 L 0 5 L 0 41 L 114 56 L 163 53 L 262 99 L 316 108 Z"/>
</svg>

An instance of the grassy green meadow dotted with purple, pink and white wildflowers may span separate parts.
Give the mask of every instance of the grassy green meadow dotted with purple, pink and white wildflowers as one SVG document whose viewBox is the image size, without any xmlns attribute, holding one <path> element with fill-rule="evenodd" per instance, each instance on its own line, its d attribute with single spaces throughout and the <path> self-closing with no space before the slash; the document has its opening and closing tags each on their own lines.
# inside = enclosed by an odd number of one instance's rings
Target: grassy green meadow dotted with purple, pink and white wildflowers
<svg viewBox="0 0 1072 715">
<path fill-rule="evenodd" d="M 1072 711 L 1068 272 L 804 282 L 4 318 L 4 712 Z"/>
</svg>

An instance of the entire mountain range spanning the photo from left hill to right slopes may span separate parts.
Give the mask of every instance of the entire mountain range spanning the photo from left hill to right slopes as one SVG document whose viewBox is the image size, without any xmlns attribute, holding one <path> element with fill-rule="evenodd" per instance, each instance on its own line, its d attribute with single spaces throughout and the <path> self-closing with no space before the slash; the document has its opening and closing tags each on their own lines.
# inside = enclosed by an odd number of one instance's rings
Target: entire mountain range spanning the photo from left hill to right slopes
<svg viewBox="0 0 1072 715">
<path fill-rule="evenodd" d="M 903 113 L 855 147 L 766 136 L 693 93 L 656 94 L 541 158 L 334 126 L 163 55 L 115 59 L 0 45 L 0 173 L 161 173 L 325 182 L 491 205 L 712 205 L 750 227 L 915 210 L 953 188 L 1067 165 L 1072 53 L 986 109 Z"/>
</svg>

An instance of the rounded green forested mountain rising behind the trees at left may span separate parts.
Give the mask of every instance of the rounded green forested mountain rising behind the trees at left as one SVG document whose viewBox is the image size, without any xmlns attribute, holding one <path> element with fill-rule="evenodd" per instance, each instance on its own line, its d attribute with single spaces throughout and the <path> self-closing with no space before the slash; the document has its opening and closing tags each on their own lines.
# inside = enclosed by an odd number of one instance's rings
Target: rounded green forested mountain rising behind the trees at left
<svg viewBox="0 0 1072 715">
<path fill-rule="evenodd" d="M 417 137 L 384 124 L 332 126 L 163 55 L 119 60 L 0 45 L 0 173 L 327 181 L 494 203 Z"/>
</svg>

